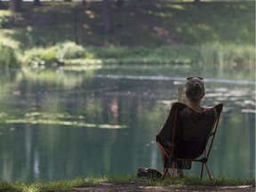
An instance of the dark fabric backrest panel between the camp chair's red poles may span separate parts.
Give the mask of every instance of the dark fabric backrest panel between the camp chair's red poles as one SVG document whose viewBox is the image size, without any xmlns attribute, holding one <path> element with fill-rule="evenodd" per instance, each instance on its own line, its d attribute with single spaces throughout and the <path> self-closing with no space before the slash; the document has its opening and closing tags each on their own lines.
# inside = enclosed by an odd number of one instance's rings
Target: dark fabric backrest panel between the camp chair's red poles
<svg viewBox="0 0 256 192">
<path fill-rule="evenodd" d="M 214 108 L 197 113 L 188 106 L 180 111 L 180 140 L 175 140 L 174 155 L 180 158 L 196 158 L 204 152 L 204 146 L 212 132 L 216 119 Z"/>
</svg>

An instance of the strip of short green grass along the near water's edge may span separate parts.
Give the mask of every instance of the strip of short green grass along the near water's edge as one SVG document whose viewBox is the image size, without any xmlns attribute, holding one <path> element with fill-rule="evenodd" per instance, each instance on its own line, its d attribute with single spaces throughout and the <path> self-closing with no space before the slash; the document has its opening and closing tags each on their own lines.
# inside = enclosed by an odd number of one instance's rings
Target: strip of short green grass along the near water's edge
<svg viewBox="0 0 256 192">
<path fill-rule="evenodd" d="M 50 182 L 36 181 L 36 182 L 9 182 L 1 181 L 0 189 L 3 191 L 68 191 L 72 188 L 83 188 L 89 186 L 96 186 L 103 183 L 114 184 L 137 184 L 139 186 L 168 186 L 168 185 L 201 185 L 201 186 L 241 186 L 252 185 L 255 186 L 254 179 L 230 179 L 230 178 L 214 178 L 200 180 L 197 177 L 185 177 L 182 180 L 144 180 L 139 179 L 136 175 L 125 176 L 110 176 L 110 177 L 78 177 L 74 180 L 56 180 Z"/>
</svg>

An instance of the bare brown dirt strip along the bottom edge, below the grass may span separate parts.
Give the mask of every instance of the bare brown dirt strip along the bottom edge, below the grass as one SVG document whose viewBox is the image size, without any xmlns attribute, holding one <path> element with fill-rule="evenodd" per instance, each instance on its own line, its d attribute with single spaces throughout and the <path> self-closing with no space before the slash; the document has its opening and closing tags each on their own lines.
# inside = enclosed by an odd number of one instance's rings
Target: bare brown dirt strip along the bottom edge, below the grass
<svg viewBox="0 0 256 192">
<path fill-rule="evenodd" d="M 132 192 L 132 191 L 161 191 L 161 192 L 172 192 L 172 191 L 231 191 L 231 192 L 240 192 L 240 191 L 255 191 L 255 186 L 227 186 L 227 187 L 212 187 L 212 186 L 177 186 L 177 185 L 170 185 L 166 187 L 143 187 L 136 184 L 112 184 L 112 183 L 105 183 L 99 186 L 87 187 L 87 188 L 74 188 L 71 192 L 106 192 L 106 191 L 124 191 L 124 192 Z"/>
</svg>

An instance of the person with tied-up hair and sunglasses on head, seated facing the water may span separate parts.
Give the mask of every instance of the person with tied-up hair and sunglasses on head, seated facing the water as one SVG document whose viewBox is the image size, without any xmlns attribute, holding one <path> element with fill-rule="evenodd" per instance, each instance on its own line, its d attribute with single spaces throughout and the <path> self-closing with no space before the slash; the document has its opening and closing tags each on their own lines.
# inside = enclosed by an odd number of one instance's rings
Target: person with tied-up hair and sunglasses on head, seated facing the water
<svg viewBox="0 0 256 192">
<path fill-rule="evenodd" d="M 202 113 L 206 108 L 203 108 L 201 105 L 201 101 L 204 98 L 204 78 L 202 77 L 188 77 L 187 84 L 186 84 L 186 97 L 187 97 L 187 105 L 191 108 L 194 112 L 193 113 Z M 162 127 L 163 128 L 163 127 Z M 157 137 L 157 136 L 156 136 Z M 163 150 L 161 150 L 161 159 L 164 167 L 164 160 L 165 155 Z M 163 168 L 163 172 L 166 171 L 168 168 Z M 170 173 L 167 171 L 166 176 L 170 176 Z M 177 169 L 176 177 L 182 178 L 184 177 L 184 173 L 182 169 Z"/>
</svg>

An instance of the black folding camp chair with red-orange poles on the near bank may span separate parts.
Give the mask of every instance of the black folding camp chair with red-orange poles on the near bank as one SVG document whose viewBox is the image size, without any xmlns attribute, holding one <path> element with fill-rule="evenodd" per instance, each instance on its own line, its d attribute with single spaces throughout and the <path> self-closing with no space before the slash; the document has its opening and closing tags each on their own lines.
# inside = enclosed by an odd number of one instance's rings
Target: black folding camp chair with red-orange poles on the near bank
<svg viewBox="0 0 256 192">
<path fill-rule="evenodd" d="M 202 163 L 201 179 L 204 166 L 210 180 L 211 173 L 207 166 L 212 143 L 218 128 L 223 104 L 207 108 L 196 113 L 186 104 L 175 102 L 156 141 L 165 155 L 163 179 L 172 164 L 172 179 L 175 169 L 190 169 L 192 162 Z M 206 145 L 209 141 L 209 148 Z M 204 155 L 203 155 L 204 154 Z M 203 155 L 203 156 L 202 156 Z"/>
</svg>

